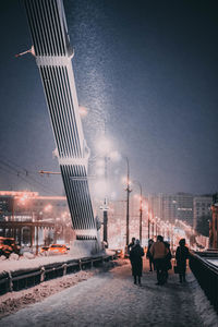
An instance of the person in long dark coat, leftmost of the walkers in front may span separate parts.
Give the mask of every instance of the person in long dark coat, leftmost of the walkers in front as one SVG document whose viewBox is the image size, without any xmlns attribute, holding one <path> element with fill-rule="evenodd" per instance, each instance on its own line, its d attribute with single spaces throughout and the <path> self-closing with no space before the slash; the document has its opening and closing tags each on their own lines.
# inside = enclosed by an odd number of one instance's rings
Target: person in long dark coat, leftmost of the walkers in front
<svg viewBox="0 0 218 327">
<path fill-rule="evenodd" d="M 132 275 L 134 277 L 134 283 L 137 283 L 137 278 L 138 278 L 140 286 L 141 286 L 141 277 L 143 274 L 142 256 L 144 256 L 144 250 L 140 245 L 140 240 L 136 240 L 135 245 L 132 247 L 130 252 L 130 259 L 132 264 Z"/>
</svg>

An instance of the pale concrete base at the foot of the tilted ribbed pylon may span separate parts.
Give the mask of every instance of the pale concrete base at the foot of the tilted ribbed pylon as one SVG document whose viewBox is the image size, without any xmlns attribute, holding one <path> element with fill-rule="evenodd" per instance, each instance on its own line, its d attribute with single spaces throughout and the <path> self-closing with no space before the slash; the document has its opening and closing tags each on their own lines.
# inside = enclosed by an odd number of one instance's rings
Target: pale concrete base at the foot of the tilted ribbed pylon
<svg viewBox="0 0 218 327">
<path fill-rule="evenodd" d="M 70 254 L 73 257 L 90 257 L 104 252 L 97 240 L 75 240 L 72 243 Z"/>
</svg>

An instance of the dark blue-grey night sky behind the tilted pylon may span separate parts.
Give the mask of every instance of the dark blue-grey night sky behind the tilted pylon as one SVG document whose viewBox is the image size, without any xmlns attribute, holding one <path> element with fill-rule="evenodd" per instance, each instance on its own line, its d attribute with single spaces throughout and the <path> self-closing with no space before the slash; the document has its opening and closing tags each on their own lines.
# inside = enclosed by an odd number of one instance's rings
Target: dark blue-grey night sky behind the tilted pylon
<svg viewBox="0 0 218 327">
<path fill-rule="evenodd" d="M 129 157 L 131 175 L 146 192 L 218 191 L 218 2 L 64 5 L 93 155 L 106 120 L 114 149 Z M 32 46 L 21 0 L 0 1 L 0 189 L 61 194 L 60 177 L 36 174 L 59 167 L 35 59 L 14 58 Z M 122 175 L 125 166 L 111 164 L 109 173 Z"/>
</svg>

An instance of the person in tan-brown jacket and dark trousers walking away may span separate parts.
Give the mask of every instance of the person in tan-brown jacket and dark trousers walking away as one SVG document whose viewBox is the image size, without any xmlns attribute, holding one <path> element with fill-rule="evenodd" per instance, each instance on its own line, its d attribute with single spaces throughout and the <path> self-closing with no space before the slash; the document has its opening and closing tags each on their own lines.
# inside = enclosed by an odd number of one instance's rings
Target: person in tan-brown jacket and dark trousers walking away
<svg viewBox="0 0 218 327">
<path fill-rule="evenodd" d="M 166 282 L 166 256 L 169 250 L 164 243 L 164 238 L 158 235 L 157 242 L 154 242 L 150 246 L 150 253 L 157 270 L 157 284 L 164 284 Z"/>
</svg>

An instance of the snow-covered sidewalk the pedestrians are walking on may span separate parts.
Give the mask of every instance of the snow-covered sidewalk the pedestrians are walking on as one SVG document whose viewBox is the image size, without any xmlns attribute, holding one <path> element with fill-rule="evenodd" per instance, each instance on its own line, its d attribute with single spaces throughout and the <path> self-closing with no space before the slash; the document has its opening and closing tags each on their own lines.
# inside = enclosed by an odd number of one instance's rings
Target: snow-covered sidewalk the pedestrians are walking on
<svg viewBox="0 0 218 327">
<path fill-rule="evenodd" d="M 143 287 L 133 284 L 130 264 L 99 274 L 1 319 L 0 326 L 218 326 L 191 272 L 185 284 L 171 274 L 159 287 L 147 270 Z"/>
</svg>

